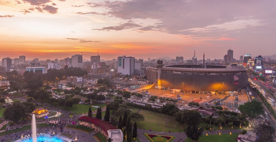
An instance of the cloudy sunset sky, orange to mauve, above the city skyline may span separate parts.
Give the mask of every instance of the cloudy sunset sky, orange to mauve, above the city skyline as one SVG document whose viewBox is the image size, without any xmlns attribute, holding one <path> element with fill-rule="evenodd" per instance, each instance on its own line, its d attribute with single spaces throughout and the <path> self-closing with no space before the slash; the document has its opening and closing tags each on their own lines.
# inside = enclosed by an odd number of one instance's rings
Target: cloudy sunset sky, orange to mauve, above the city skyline
<svg viewBox="0 0 276 142">
<path fill-rule="evenodd" d="M 273 0 L 0 0 L 0 58 L 273 55 Z"/>
</svg>

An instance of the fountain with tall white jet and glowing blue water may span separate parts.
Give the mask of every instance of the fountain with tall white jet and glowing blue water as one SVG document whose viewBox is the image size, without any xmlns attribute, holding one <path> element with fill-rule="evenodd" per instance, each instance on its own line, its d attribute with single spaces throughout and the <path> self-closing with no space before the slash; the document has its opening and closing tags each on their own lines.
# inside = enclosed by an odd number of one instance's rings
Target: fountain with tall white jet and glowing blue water
<svg viewBox="0 0 276 142">
<path fill-rule="evenodd" d="M 33 114 L 32 116 L 32 136 L 30 135 L 25 135 L 23 137 L 23 134 L 21 135 L 21 137 L 19 137 L 20 139 L 16 140 L 15 142 L 64 142 L 64 141 L 68 141 L 68 140 L 64 140 L 64 139 L 60 139 L 58 137 L 51 137 L 50 135 L 47 135 L 45 133 L 36 133 L 36 118 Z M 57 133 L 55 133 L 53 131 L 53 133 L 51 133 L 51 135 L 56 135 Z M 70 139 L 71 141 L 71 139 Z"/>
</svg>

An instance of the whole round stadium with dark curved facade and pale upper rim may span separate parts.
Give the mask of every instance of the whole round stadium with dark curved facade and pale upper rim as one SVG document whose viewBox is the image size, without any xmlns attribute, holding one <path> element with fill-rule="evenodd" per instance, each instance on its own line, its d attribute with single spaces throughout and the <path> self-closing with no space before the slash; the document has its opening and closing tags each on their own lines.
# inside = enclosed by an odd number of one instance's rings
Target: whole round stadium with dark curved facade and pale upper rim
<svg viewBox="0 0 276 142">
<path fill-rule="evenodd" d="M 148 67 L 149 82 L 156 83 L 157 67 Z M 161 68 L 160 82 L 164 88 L 191 93 L 238 91 L 248 83 L 247 68 L 216 65 L 167 65 Z"/>
</svg>

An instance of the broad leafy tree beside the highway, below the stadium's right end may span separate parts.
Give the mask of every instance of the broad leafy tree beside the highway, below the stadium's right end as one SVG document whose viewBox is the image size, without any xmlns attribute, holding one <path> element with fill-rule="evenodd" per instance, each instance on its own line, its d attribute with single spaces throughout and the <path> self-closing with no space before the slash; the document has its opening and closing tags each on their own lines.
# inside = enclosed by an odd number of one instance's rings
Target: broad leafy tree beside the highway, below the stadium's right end
<svg viewBox="0 0 276 142">
<path fill-rule="evenodd" d="M 238 110 L 240 110 L 243 115 L 247 115 L 252 121 L 254 121 L 254 118 L 256 118 L 257 115 L 263 114 L 264 112 L 262 103 L 255 100 L 240 105 Z"/>
</svg>

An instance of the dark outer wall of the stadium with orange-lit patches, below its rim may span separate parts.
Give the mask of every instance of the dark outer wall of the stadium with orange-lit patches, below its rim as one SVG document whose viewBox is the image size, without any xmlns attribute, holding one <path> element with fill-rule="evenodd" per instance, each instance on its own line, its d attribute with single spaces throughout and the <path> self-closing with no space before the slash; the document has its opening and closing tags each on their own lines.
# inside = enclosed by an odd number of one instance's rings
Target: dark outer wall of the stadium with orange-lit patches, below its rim
<svg viewBox="0 0 276 142">
<path fill-rule="evenodd" d="M 204 70 L 202 68 L 183 72 L 181 70 L 183 68 L 175 68 L 178 69 L 179 72 L 173 69 L 174 68 L 170 68 L 170 72 L 166 68 L 162 68 L 161 85 L 165 88 L 169 87 L 185 91 L 237 91 L 239 88 L 246 87 L 248 83 L 246 69 L 233 71 L 225 69 L 226 71 L 217 72 L 215 72 L 214 70 L 216 69 L 214 69 L 211 71 L 213 73 L 209 74 L 203 72 L 210 72 L 210 70 Z M 224 70 L 223 67 L 222 70 Z M 157 71 L 154 70 L 154 68 L 148 69 L 147 76 L 149 82 L 157 82 Z M 182 82 L 184 82 L 184 87 L 182 87 Z"/>
</svg>

